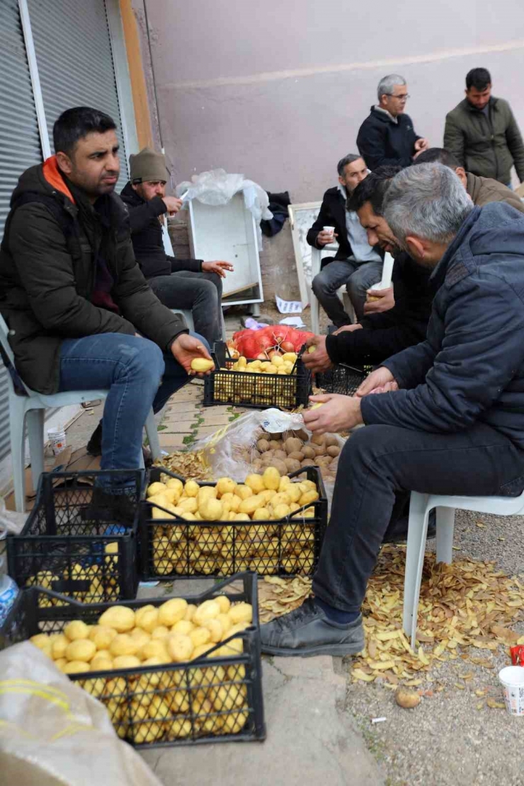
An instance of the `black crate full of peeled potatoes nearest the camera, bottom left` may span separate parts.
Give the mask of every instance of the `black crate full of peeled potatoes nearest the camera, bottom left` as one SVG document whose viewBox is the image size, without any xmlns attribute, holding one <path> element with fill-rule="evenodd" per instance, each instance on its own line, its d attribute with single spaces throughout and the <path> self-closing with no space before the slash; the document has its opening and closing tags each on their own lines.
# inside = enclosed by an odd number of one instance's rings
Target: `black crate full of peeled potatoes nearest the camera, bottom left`
<svg viewBox="0 0 524 786">
<path fill-rule="evenodd" d="M 100 700 L 135 747 L 264 739 L 254 574 L 198 597 L 125 605 L 24 589 L 0 648 L 25 640 Z"/>
</svg>

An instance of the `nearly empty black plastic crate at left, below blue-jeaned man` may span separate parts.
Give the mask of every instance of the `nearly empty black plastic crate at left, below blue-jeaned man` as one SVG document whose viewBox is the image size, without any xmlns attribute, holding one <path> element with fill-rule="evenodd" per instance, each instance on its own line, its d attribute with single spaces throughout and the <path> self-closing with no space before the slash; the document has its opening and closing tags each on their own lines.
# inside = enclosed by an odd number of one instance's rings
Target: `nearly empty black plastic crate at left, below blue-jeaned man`
<svg viewBox="0 0 524 786">
<path fill-rule="evenodd" d="M 124 476 L 134 479 L 126 491 L 137 507 L 132 527 L 124 527 L 109 511 L 102 518 L 89 508 L 94 487 L 88 484 L 107 474 L 42 473 L 23 530 L 6 541 L 9 575 L 18 586 L 43 586 L 84 603 L 135 597 L 138 500 L 145 472 L 110 472 L 116 483 Z"/>
</svg>

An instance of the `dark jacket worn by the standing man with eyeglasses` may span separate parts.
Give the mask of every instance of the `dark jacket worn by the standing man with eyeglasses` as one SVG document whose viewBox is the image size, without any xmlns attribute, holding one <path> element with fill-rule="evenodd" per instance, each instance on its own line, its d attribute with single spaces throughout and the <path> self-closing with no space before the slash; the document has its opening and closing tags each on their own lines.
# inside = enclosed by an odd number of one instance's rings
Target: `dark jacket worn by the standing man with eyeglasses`
<svg viewBox="0 0 524 786">
<path fill-rule="evenodd" d="M 360 126 L 356 146 L 360 155 L 373 170 L 382 166 L 409 167 L 415 153 L 415 134 L 409 115 L 397 115 L 397 123 L 371 107 L 369 116 Z"/>
</svg>

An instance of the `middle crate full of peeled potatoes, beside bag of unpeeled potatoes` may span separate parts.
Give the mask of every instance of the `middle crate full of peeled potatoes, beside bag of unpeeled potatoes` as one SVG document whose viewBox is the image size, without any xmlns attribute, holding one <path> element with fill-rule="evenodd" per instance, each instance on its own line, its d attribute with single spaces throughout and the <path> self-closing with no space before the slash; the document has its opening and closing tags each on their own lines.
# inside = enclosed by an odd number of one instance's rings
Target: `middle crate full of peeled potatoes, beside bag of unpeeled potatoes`
<svg viewBox="0 0 524 786">
<path fill-rule="evenodd" d="M 184 480 L 149 471 L 140 504 L 142 580 L 312 575 L 327 527 L 327 499 L 316 467 L 281 475 L 268 467 L 244 483 Z"/>
</svg>

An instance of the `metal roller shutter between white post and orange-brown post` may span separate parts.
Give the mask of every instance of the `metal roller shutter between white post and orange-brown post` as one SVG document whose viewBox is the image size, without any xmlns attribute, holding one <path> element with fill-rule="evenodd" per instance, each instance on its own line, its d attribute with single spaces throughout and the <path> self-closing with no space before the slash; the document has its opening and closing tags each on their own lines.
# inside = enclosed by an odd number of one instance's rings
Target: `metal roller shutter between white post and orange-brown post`
<svg viewBox="0 0 524 786">
<path fill-rule="evenodd" d="M 92 106 L 113 117 L 120 141 L 120 180 L 127 182 L 127 155 L 116 91 L 104 0 L 28 0 L 46 123 L 72 106 Z"/>
</svg>

